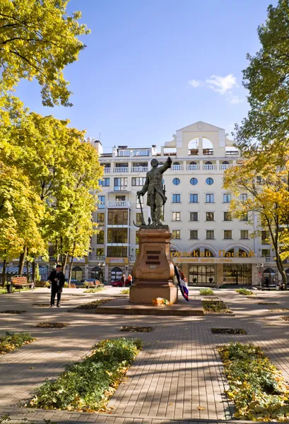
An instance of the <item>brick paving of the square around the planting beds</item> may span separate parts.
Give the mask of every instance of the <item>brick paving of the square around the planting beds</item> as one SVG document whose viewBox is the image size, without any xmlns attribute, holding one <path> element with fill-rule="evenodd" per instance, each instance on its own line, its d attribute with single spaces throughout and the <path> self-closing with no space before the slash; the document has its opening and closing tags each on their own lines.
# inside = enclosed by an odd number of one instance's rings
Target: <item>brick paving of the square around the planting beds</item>
<svg viewBox="0 0 289 424">
<path fill-rule="evenodd" d="M 105 292 L 71 296 L 80 289 L 67 289 L 60 309 L 35 307 L 49 302 L 47 289 L 0 295 L 0 312 L 25 310 L 25 314 L 0 314 L 0 331 L 29 331 L 34 343 L 0 357 L 0 416 L 9 413 L 11 424 L 28 418 L 54 423 L 217 423 L 232 422 L 232 406 L 223 391 L 225 379 L 216 347 L 229 341 L 252 342 L 261 346 L 272 362 L 288 377 L 289 322 L 280 319 L 288 312 L 273 308 L 288 307 L 289 293 L 257 292 L 261 301 L 278 305 L 257 305 L 230 290 L 216 290 L 235 316 L 207 314 L 204 317 L 153 317 L 72 314 L 69 308 Z M 199 298 L 198 291 L 191 291 Z M 39 322 L 64 322 L 64 329 L 35 328 Z M 126 325 L 153 326 L 151 333 L 119 333 Z M 212 327 L 243 328 L 246 335 L 212 334 Z M 138 355 L 112 396 L 106 414 L 71 411 L 40 411 L 19 408 L 20 402 L 46 378 L 54 378 L 70 361 L 79 360 L 102 338 L 139 337 L 144 341 Z M 225 421 L 224 421 L 225 420 Z M 240 420 L 237 421 L 240 423 Z"/>
</svg>

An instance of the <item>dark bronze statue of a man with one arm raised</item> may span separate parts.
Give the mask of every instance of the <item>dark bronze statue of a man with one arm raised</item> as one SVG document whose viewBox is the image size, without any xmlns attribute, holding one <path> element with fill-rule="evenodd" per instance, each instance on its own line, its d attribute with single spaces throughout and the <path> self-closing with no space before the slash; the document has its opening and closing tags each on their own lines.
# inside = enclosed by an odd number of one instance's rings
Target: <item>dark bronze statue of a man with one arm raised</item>
<svg viewBox="0 0 289 424">
<path fill-rule="evenodd" d="M 137 192 L 138 197 L 143 196 L 148 192 L 147 205 L 151 206 L 151 218 L 153 225 L 162 225 L 160 220 L 162 216 L 162 208 L 167 198 L 163 189 L 163 173 L 172 166 L 172 159 L 167 158 L 165 165 L 158 167 L 158 160 L 151 161 L 151 171 L 146 173 L 146 182 L 140 192 Z"/>
</svg>

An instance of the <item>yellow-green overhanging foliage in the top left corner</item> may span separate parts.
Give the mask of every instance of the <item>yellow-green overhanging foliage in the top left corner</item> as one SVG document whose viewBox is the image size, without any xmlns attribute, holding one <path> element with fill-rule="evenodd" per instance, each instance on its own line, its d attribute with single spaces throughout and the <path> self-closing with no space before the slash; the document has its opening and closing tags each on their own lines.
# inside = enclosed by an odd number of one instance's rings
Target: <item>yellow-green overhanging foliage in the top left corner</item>
<svg viewBox="0 0 289 424">
<path fill-rule="evenodd" d="M 0 93 L 13 90 L 21 78 L 37 79 L 46 106 L 69 106 L 69 82 L 63 70 L 85 48 L 79 36 L 90 31 L 69 16 L 67 0 L 0 1 Z"/>
</svg>

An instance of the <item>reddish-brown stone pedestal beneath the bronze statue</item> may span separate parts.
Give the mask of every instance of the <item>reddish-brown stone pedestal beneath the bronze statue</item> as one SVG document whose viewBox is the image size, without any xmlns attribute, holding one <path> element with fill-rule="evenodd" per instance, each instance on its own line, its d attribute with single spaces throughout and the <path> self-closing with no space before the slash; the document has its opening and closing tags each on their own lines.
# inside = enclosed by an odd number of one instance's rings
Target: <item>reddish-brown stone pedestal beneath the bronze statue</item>
<svg viewBox="0 0 289 424">
<path fill-rule="evenodd" d="M 175 269 L 170 257 L 172 233 L 168 226 L 141 225 L 137 235 L 139 252 L 129 301 L 134 305 L 153 305 L 153 299 L 164 298 L 177 303 L 177 287 L 172 282 Z"/>
</svg>

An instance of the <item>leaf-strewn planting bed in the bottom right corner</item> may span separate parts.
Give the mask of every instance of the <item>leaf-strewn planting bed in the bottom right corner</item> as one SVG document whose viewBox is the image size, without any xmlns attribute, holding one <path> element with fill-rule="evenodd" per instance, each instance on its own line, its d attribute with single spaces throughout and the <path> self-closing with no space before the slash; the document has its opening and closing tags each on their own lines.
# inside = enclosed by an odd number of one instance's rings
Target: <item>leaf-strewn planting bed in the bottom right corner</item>
<svg viewBox="0 0 289 424">
<path fill-rule="evenodd" d="M 288 421 L 289 385 L 269 358 L 252 344 L 230 343 L 218 348 L 235 401 L 235 418 Z"/>
</svg>

